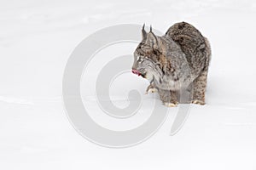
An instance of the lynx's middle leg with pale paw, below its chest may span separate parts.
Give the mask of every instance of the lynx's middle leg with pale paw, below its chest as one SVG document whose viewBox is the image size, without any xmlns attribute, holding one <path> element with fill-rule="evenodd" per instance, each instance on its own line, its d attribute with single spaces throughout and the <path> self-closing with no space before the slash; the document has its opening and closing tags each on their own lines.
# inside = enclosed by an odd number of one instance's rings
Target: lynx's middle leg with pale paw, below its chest
<svg viewBox="0 0 256 170">
<path fill-rule="evenodd" d="M 177 106 L 177 92 L 159 89 L 158 93 L 160 95 L 161 101 L 163 102 L 163 105 L 166 105 L 167 107 Z"/>
</svg>

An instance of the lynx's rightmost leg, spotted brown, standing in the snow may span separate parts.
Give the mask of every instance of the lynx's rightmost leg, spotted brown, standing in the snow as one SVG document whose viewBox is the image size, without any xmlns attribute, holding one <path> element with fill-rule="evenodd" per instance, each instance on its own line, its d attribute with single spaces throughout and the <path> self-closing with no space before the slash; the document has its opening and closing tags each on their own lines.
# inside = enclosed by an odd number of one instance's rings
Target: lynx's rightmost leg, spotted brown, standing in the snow
<svg viewBox="0 0 256 170">
<path fill-rule="evenodd" d="M 207 71 L 202 71 L 201 75 L 193 82 L 193 104 L 205 105 L 205 94 L 207 89 Z"/>
</svg>

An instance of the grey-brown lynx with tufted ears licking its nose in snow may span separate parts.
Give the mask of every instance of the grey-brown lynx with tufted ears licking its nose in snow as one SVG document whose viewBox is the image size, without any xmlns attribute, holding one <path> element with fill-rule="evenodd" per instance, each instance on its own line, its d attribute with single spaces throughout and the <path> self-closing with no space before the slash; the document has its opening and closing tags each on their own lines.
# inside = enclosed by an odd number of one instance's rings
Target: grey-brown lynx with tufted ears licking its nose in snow
<svg viewBox="0 0 256 170">
<path fill-rule="evenodd" d="M 158 92 L 164 105 L 178 104 L 181 89 L 190 89 L 189 102 L 205 105 L 211 48 L 194 26 L 180 22 L 162 37 L 142 30 L 142 42 L 134 52 L 132 72 L 147 78 L 148 92 Z"/>
</svg>

